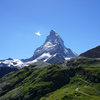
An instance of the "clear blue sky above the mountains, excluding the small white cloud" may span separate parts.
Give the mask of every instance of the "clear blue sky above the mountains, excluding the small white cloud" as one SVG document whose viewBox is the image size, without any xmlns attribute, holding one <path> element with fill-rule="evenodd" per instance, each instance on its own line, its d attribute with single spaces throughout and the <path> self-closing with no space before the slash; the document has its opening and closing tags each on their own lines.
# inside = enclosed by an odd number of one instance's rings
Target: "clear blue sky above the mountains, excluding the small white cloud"
<svg viewBox="0 0 100 100">
<path fill-rule="evenodd" d="M 100 45 L 100 0 L 0 0 L 0 59 L 31 57 L 51 29 L 77 54 Z"/>
</svg>

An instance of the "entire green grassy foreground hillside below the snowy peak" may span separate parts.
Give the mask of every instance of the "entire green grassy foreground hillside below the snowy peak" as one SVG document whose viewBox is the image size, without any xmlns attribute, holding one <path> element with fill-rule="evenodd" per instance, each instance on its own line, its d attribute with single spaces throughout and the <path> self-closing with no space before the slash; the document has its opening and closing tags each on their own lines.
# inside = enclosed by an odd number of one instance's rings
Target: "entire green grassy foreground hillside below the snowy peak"
<svg viewBox="0 0 100 100">
<path fill-rule="evenodd" d="M 78 59 L 69 66 L 10 73 L 0 79 L 0 100 L 100 100 L 100 60 Z"/>
</svg>

